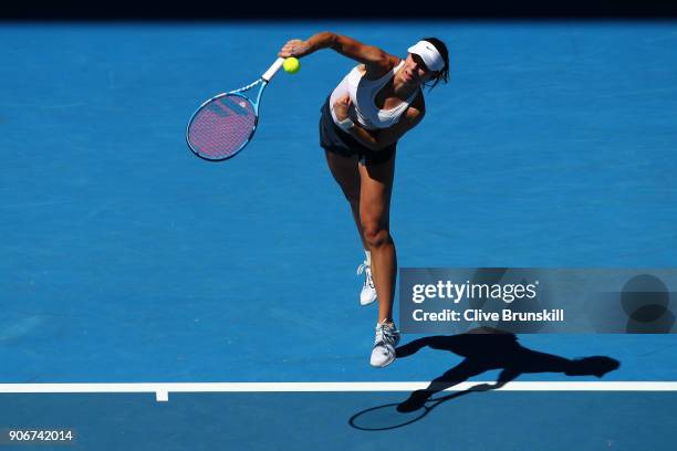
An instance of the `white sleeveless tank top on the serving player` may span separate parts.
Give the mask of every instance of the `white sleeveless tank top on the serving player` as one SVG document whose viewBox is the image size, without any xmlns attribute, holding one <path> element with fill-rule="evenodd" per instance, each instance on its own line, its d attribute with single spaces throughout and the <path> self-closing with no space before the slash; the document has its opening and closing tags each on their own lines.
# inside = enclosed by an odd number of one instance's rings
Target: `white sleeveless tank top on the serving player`
<svg viewBox="0 0 677 451">
<path fill-rule="evenodd" d="M 345 94 L 350 94 L 351 102 L 355 106 L 355 117 L 352 117 L 353 120 L 357 119 L 360 125 L 364 128 L 372 130 L 376 128 L 388 128 L 399 120 L 402 114 L 408 108 L 414 98 L 416 98 L 418 90 L 405 102 L 390 109 L 377 108 L 375 99 L 376 94 L 378 94 L 381 88 L 395 76 L 395 72 L 397 72 L 403 64 L 404 60 L 378 80 L 366 80 L 363 77 L 364 73 L 358 70 L 360 65 L 353 67 L 353 70 L 343 77 L 330 96 L 330 107 L 334 123 L 336 123 L 334 103 Z"/>
</svg>

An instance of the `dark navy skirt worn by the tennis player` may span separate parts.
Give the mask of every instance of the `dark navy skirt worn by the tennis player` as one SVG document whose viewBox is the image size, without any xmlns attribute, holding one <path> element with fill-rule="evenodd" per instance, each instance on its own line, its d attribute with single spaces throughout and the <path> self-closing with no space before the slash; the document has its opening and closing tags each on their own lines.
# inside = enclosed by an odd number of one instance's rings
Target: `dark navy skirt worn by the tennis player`
<svg viewBox="0 0 677 451">
<path fill-rule="evenodd" d="M 320 146 L 327 151 L 344 157 L 357 156 L 360 161 L 366 166 L 389 161 L 395 155 L 397 143 L 393 143 L 381 150 L 372 150 L 334 124 L 330 111 L 330 97 L 326 97 L 320 112 Z"/>
</svg>

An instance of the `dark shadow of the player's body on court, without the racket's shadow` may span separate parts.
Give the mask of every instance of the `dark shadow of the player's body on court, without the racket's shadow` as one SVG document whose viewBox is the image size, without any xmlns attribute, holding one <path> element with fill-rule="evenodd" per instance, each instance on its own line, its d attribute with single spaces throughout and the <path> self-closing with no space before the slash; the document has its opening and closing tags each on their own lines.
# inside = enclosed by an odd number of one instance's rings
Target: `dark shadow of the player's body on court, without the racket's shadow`
<svg viewBox="0 0 677 451">
<path fill-rule="evenodd" d="M 424 347 L 447 350 L 465 359 L 435 378 L 427 388 L 414 391 L 406 401 L 397 406 L 399 412 L 420 409 L 433 395 L 493 369 L 501 369 L 496 384 L 480 384 L 467 391 L 493 390 L 527 373 L 562 373 L 566 376 L 601 378 L 621 366 L 618 360 L 604 356 L 569 359 L 539 353 L 520 345 L 512 333 L 487 327 L 460 335 L 439 335 L 415 339 L 396 349 L 397 358 L 409 357 Z"/>
</svg>

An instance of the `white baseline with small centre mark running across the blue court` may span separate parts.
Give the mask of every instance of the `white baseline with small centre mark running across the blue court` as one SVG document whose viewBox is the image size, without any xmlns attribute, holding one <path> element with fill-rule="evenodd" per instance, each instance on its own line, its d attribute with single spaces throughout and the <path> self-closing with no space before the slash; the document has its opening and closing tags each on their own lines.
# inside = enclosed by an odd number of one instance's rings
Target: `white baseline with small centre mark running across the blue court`
<svg viewBox="0 0 677 451">
<path fill-rule="evenodd" d="M 429 382 L 134 382 L 134 384 L 0 384 L 0 394 L 155 394 L 288 392 L 288 391 L 413 391 Z M 462 391 L 478 384 L 461 382 L 445 391 Z M 515 381 L 501 391 L 677 391 L 677 381 Z"/>
</svg>

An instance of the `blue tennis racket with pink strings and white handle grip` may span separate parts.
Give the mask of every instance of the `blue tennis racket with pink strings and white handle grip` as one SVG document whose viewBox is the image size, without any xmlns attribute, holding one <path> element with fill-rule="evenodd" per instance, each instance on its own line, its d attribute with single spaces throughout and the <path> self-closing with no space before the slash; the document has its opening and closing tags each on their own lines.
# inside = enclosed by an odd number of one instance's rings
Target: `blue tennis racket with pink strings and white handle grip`
<svg viewBox="0 0 677 451">
<path fill-rule="evenodd" d="M 190 150 L 209 161 L 222 161 L 238 155 L 253 137 L 261 95 L 283 62 L 284 59 L 279 57 L 256 82 L 215 95 L 201 104 L 186 128 Z"/>
</svg>

